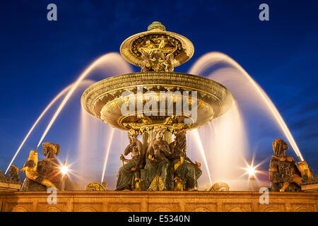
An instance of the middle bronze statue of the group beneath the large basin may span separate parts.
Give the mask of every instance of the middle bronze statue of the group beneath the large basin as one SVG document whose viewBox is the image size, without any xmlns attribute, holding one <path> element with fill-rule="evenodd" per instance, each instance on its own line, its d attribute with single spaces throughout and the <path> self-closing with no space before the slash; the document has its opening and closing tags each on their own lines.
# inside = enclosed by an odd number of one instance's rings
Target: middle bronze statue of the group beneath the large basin
<svg viewBox="0 0 318 226">
<path fill-rule="evenodd" d="M 165 128 L 155 127 L 153 133 L 155 139 L 148 145 L 146 151 L 146 166 L 148 191 L 170 191 L 172 186 L 172 176 L 170 174 L 170 148 L 167 141 L 163 140 Z"/>
</svg>

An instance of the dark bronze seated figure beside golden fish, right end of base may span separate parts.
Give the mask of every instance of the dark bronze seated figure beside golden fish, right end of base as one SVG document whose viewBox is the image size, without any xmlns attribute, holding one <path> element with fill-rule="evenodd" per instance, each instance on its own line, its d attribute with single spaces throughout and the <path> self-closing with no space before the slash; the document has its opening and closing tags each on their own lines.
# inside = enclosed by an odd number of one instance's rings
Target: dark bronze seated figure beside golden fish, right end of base
<svg viewBox="0 0 318 226">
<path fill-rule="evenodd" d="M 301 191 L 301 174 L 293 157 L 285 154 L 287 143 L 281 138 L 273 141 L 273 152 L 269 165 L 271 191 Z"/>
</svg>

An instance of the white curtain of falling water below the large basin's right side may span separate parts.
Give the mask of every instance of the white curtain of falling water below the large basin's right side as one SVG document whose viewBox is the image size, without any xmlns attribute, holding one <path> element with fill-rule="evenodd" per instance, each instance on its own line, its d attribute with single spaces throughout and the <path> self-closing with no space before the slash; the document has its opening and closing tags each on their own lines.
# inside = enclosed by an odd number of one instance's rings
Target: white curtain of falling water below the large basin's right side
<svg viewBox="0 0 318 226">
<path fill-rule="evenodd" d="M 190 159 L 204 162 L 199 189 L 208 189 L 216 182 L 226 182 L 235 190 L 246 187 L 247 177 L 241 176 L 245 173 L 242 166 L 245 166 L 248 145 L 237 105 L 210 124 L 188 133 Z"/>
</svg>

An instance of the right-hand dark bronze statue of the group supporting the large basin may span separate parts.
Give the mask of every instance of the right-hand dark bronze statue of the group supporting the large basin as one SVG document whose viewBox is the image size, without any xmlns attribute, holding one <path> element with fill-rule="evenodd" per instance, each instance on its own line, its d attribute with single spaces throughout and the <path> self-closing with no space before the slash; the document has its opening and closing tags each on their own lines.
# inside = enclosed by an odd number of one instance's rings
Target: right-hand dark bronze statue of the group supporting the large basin
<svg viewBox="0 0 318 226">
<path fill-rule="evenodd" d="M 199 162 L 192 162 L 187 157 L 186 131 L 179 131 L 175 134 L 175 141 L 170 143 L 172 155 L 170 157 L 172 175 L 182 179 L 185 190 L 197 190 L 198 179 L 202 174 Z"/>
</svg>

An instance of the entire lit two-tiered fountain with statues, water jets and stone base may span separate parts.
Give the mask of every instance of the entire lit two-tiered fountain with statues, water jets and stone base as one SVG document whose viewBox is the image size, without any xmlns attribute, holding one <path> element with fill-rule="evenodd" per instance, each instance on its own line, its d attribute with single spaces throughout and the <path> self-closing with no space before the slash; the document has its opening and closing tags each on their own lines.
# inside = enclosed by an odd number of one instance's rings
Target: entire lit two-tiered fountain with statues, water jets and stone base
<svg viewBox="0 0 318 226">
<path fill-rule="evenodd" d="M 35 203 L 30 207 L 25 204 L 25 201 L 30 199 L 28 192 L 17 193 L 14 196 L 0 193 L 0 201 L 3 203 L 1 208 L 31 211 L 296 211 L 303 208 L 317 210 L 317 207 L 311 206 L 317 202 L 317 195 L 314 193 L 286 192 L 283 195 L 280 192 L 271 192 L 271 205 L 259 205 L 260 194 L 255 192 L 253 184 L 258 171 L 253 161 L 247 164 L 247 169 L 243 168 L 248 147 L 240 103 L 237 102 L 240 100 L 240 93 L 228 83 L 235 80 L 234 74 L 237 71 L 247 79 L 251 90 L 257 93 L 261 104 L 276 120 L 300 159 L 297 165 L 293 157 L 285 155 L 288 145 L 283 140 L 276 139 L 273 142 L 275 155 L 271 159 L 269 169 L 271 191 L 312 191 L 317 185 L 316 183 L 312 186 L 317 177 L 313 177 L 312 170 L 303 160 L 293 136 L 269 97 L 234 60 L 225 54 L 210 53 L 199 59 L 189 73 L 175 72 L 175 67 L 191 59 L 194 46 L 186 37 L 168 32 L 159 22 L 149 25 L 148 31 L 124 40 L 120 53 L 126 61 L 141 67 L 141 72 L 131 73 L 129 66 L 124 63 L 124 74 L 105 78 L 90 85 L 81 97 L 78 148 L 82 172 L 90 173 L 84 160 L 90 155 L 87 143 L 92 141 L 88 138 L 88 127 L 93 125 L 88 122 L 87 117 L 100 119 L 108 127 L 107 137 L 101 141 L 105 143 L 105 153 L 102 153 L 100 182 L 86 181 L 86 191 L 70 191 L 72 184 L 68 181 L 68 173 L 71 169 L 65 161 L 61 165 L 55 159 L 59 154 L 59 145 L 43 143 L 46 158 L 37 162 L 36 150 L 31 151 L 28 162 L 22 169 L 27 175 L 23 191 L 46 191 L 53 187 L 59 190 L 57 194 L 61 197 L 62 203 L 56 208 L 42 205 L 47 197 L 39 193 Z M 38 148 L 78 85 L 96 66 L 102 66 L 105 59 L 112 57 L 113 54 L 107 54 L 94 61 L 75 83 L 59 93 L 42 112 L 23 143 L 47 109 L 66 93 L 42 134 Z M 122 59 L 117 59 L 122 64 Z M 112 62 L 116 63 L 113 58 Z M 199 76 L 208 67 L 218 63 L 229 64 L 230 67 L 210 73 L 208 78 Z M 228 81 L 225 81 L 224 74 L 228 76 Z M 125 145 L 122 137 L 124 133 L 119 131 L 128 133 L 129 144 L 125 149 L 122 148 L 122 145 Z M 139 135 L 142 142 L 138 139 Z M 90 134 L 90 138 L 92 136 L 93 134 Z M 98 138 L 95 138 L 95 141 L 100 142 Z M 119 145 L 122 150 L 112 153 L 114 144 Z M 123 154 L 120 155 L 121 153 Z M 117 155 L 117 160 L 112 154 Z M 126 159 L 125 156 L 129 154 L 131 159 Z M 202 165 L 192 159 L 199 160 Z M 112 182 L 105 181 L 109 162 L 122 164 L 117 174 L 116 189 L 112 189 L 114 191 L 107 189 Z M 280 167 L 285 171 L 281 171 Z M 14 181 L 17 184 L 18 169 L 13 165 L 10 169 L 11 179 L 5 175 L 0 176 L 8 182 Z M 246 173 L 249 174 L 252 192 L 246 189 L 242 192 L 237 191 L 242 190 L 242 177 L 245 177 Z M 81 172 L 78 171 L 78 174 L 81 176 L 80 180 L 87 179 Z M 281 178 L 285 181 L 281 181 Z M 204 183 L 200 185 L 201 182 Z M 286 199 L 286 203 L 282 205 L 281 199 L 286 196 L 288 200 Z M 235 203 L 232 200 L 235 200 Z M 294 203 L 290 203 L 290 200 Z"/>
</svg>

